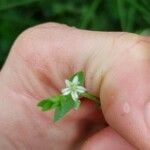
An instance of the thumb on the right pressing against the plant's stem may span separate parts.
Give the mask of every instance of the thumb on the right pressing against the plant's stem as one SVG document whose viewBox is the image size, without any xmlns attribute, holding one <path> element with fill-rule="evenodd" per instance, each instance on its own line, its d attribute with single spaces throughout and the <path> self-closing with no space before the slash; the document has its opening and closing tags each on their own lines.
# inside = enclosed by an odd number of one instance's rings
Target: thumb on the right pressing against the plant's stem
<svg viewBox="0 0 150 150">
<path fill-rule="evenodd" d="M 140 150 L 150 149 L 149 49 L 147 40 L 141 40 L 132 49 L 126 50 L 128 57 L 126 54 L 120 57 L 118 64 L 105 76 L 101 87 L 106 121 Z"/>
</svg>

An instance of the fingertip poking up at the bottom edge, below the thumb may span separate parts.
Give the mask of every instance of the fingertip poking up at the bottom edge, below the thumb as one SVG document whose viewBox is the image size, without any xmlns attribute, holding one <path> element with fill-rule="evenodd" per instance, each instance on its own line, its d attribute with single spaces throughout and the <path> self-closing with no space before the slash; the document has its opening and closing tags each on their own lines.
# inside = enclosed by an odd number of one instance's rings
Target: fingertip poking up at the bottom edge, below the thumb
<svg viewBox="0 0 150 150">
<path fill-rule="evenodd" d="M 136 150 L 110 127 L 89 138 L 82 150 Z"/>
</svg>

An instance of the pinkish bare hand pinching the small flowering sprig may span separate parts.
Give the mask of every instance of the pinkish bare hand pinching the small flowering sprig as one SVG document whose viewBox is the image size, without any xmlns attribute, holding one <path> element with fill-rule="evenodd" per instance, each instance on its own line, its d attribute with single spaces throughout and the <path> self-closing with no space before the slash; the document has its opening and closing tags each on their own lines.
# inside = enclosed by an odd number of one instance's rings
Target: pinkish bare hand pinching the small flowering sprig
<svg viewBox="0 0 150 150">
<path fill-rule="evenodd" d="M 84 31 L 56 23 L 26 30 L 0 73 L 0 147 L 149 150 L 150 129 L 144 118 L 150 89 L 149 43 L 148 37 L 135 34 Z M 78 111 L 54 124 L 53 112 L 43 113 L 36 104 L 58 94 L 64 80 L 79 70 L 85 72 L 86 88 L 100 96 L 102 111 L 83 99 Z"/>
</svg>

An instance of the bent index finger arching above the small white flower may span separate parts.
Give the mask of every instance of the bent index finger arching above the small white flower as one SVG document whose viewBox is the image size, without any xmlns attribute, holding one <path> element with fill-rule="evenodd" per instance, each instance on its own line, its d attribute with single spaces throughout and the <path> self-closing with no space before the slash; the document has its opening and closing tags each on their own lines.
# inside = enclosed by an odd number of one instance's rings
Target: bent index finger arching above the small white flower
<svg viewBox="0 0 150 150">
<path fill-rule="evenodd" d="M 125 44 L 124 39 L 131 42 Z M 134 42 L 131 39 L 135 39 Z M 120 49 L 133 45 L 136 39 L 137 36 L 124 33 L 84 31 L 54 23 L 39 25 L 18 37 L 1 77 L 10 87 L 24 84 L 27 92 L 43 97 L 60 91 L 65 78 L 83 70 L 86 87 L 99 96 L 102 76 L 114 56 Z"/>
</svg>

